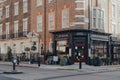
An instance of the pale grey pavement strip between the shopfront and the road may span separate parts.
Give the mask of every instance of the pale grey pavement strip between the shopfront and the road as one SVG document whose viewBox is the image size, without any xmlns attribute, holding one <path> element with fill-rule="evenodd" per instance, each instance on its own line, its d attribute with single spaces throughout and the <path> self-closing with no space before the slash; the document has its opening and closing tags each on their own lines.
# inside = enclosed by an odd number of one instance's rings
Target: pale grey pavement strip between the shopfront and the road
<svg viewBox="0 0 120 80">
<path fill-rule="evenodd" d="M 12 62 L 0 62 L 0 65 L 12 65 Z M 29 64 L 29 62 L 21 62 L 18 66 L 51 70 L 76 70 L 81 72 L 107 72 L 120 70 L 120 65 L 89 66 L 84 63 L 82 63 L 82 69 L 79 69 L 78 63 L 67 66 L 41 64 L 40 67 L 38 67 L 38 64 Z"/>
</svg>

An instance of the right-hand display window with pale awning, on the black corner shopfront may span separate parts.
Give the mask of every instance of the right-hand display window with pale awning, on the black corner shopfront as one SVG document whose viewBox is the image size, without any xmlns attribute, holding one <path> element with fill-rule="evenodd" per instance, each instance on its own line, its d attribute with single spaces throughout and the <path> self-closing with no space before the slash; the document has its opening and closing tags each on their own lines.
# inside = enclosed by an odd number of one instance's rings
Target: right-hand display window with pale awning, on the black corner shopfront
<svg viewBox="0 0 120 80">
<path fill-rule="evenodd" d="M 108 34 L 91 34 L 91 58 L 107 58 L 110 54 L 109 40 L 110 38 Z"/>
</svg>

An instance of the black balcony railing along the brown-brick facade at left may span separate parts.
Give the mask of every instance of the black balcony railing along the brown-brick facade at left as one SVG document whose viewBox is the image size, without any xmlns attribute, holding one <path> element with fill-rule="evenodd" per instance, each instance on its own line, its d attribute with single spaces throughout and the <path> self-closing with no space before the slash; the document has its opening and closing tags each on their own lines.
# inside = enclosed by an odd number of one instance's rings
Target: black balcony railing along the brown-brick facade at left
<svg viewBox="0 0 120 80">
<path fill-rule="evenodd" d="M 20 33 L 0 35 L 0 40 L 26 37 L 27 33 L 28 33 L 27 31 L 24 31 L 24 32 L 20 32 Z"/>
</svg>

